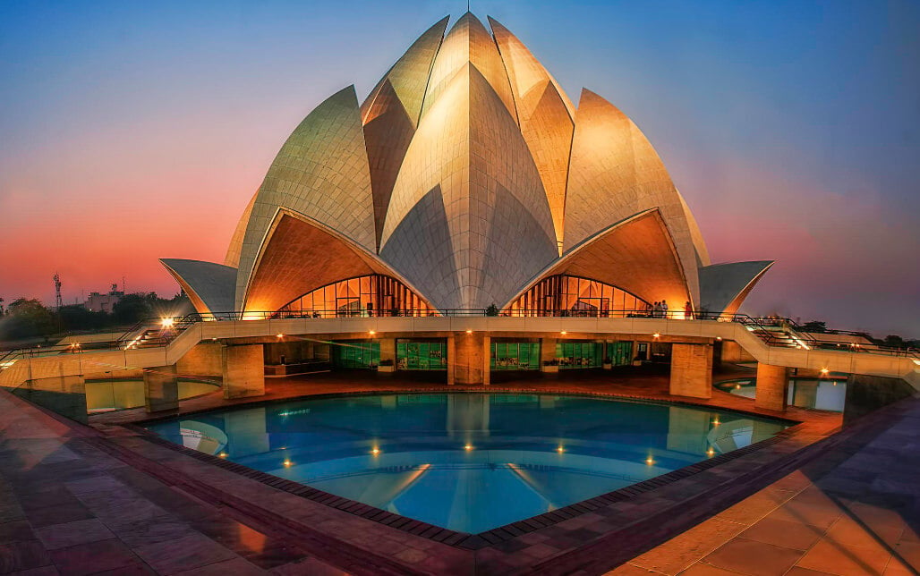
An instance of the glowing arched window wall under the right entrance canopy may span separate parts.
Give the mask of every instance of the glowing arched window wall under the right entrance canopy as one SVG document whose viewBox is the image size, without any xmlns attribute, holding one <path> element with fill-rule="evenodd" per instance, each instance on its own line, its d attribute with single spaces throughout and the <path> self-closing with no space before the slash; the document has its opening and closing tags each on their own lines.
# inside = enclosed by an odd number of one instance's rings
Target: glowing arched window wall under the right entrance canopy
<svg viewBox="0 0 920 576">
<path fill-rule="evenodd" d="M 645 316 L 650 305 L 635 294 L 578 276 L 549 276 L 503 310 L 507 316 Z"/>
</svg>

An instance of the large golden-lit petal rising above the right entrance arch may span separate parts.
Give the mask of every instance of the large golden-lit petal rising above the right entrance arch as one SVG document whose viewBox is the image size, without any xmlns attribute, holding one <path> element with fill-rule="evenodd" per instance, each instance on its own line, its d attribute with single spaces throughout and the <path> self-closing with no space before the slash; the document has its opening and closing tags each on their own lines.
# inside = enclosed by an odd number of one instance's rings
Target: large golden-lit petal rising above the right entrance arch
<svg viewBox="0 0 920 576">
<path fill-rule="evenodd" d="M 638 126 L 590 90 L 581 91 L 566 195 L 566 251 L 600 228 L 658 208 L 673 236 L 693 300 L 699 301 L 696 249 L 668 171 Z"/>
</svg>

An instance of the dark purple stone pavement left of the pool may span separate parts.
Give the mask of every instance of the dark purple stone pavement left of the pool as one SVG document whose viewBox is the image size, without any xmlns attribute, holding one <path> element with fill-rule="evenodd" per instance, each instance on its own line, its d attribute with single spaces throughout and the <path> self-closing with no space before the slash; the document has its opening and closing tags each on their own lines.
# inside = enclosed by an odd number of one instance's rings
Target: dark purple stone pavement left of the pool
<svg viewBox="0 0 920 576">
<path fill-rule="evenodd" d="M 0 392 L 0 574 L 341 574 Z"/>
</svg>

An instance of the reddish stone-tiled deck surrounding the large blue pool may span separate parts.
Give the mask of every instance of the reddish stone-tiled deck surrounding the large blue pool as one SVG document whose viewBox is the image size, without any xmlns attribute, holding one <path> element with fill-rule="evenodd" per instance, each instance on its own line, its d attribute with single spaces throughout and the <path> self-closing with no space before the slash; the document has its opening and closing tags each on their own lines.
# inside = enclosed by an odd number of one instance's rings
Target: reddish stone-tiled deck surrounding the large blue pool
<svg viewBox="0 0 920 576">
<path fill-rule="evenodd" d="M 516 382 L 491 389 L 666 399 L 666 384 L 665 377 L 613 382 L 609 376 L 587 376 L 564 384 Z M 446 387 L 332 375 L 271 380 L 269 386 L 269 399 Z M 703 403 L 749 411 L 753 404 L 721 393 Z M 202 397 L 184 403 L 183 411 L 225 404 L 220 397 Z M 850 548 L 857 559 L 872 550 L 875 555 L 863 560 L 865 566 L 876 567 L 882 558 L 883 570 L 896 570 L 898 561 L 916 561 L 920 547 L 910 528 L 918 517 L 914 484 L 920 483 L 905 482 L 920 471 L 920 406 L 914 400 L 829 439 L 839 416 L 792 409 L 786 416 L 804 423 L 778 442 L 627 499 L 602 498 L 551 522 L 526 530 L 512 527 L 507 535 L 483 536 L 485 541 L 465 546 L 437 541 L 439 529 L 411 523 L 394 528 L 361 517 L 360 507 L 337 509 L 279 490 L 117 425 L 144 416 L 132 410 L 108 414 L 94 417 L 95 428 L 86 428 L 0 393 L 0 573 L 593 574 L 622 564 L 617 569 L 622 573 L 783 574 L 797 562 L 827 571 L 820 567 L 828 561 L 839 564 L 834 551 Z M 886 434 L 895 438 L 886 440 Z M 815 460 L 817 455 L 822 457 Z M 893 466 L 885 465 L 888 460 Z M 836 474 L 843 476 L 834 480 Z M 840 490 L 849 490 L 848 495 Z M 857 502 L 864 491 L 876 494 L 875 500 Z M 812 508 L 823 511 L 827 501 L 871 512 L 863 524 L 844 512 L 833 521 L 829 512 L 814 512 L 817 519 L 808 515 Z M 895 524 L 895 517 L 903 525 L 881 531 L 883 524 Z M 700 521 L 705 522 L 693 527 Z M 800 524 L 805 531 L 776 522 Z M 867 546 L 876 526 L 886 535 L 880 541 L 887 556 Z M 819 529 L 820 534 L 805 537 Z M 666 541 L 675 534 L 680 536 Z M 769 540 L 773 536 L 787 539 Z M 762 561 L 762 553 L 789 560 L 788 566 Z M 891 573 L 915 573 L 904 570 Z"/>
</svg>

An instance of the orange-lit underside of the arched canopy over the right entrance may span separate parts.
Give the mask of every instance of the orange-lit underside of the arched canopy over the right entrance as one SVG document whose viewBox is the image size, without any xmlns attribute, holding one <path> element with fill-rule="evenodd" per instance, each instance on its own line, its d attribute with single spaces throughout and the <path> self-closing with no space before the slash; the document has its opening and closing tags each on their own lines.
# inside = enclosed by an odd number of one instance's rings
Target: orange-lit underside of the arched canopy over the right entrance
<svg viewBox="0 0 920 576">
<path fill-rule="evenodd" d="M 555 274 L 611 284 L 646 302 L 666 300 L 683 310 L 690 299 L 671 235 L 657 209 L 635 214 L 585 239 L 509 298 L 510 305 L 536 282 Z"/>
</svg>

